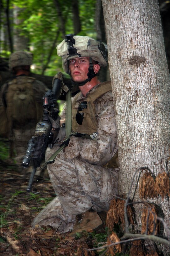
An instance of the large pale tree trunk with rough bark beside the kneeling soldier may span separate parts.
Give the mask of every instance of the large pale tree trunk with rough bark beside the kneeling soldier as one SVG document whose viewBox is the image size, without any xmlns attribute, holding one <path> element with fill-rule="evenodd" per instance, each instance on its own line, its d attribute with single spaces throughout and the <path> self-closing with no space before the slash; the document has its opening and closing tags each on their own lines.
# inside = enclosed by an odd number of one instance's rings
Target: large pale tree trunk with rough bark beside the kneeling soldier
<svg viewBox="0 0 170 256">
<path fill-rule="evenodd" d="M 127 196 L 138 168 L 147 167 L 155 176 L 167 171 L 169 72 L 158 2 L 102 3 L 117 120 L 119 194 Z M 139 172 L 131 198 L 138 176 Z M 135 200 L 139 201 L 138 188 Z M 168 198 L 150 202 L 159 205 L 169 224 Z"/>
</svg>

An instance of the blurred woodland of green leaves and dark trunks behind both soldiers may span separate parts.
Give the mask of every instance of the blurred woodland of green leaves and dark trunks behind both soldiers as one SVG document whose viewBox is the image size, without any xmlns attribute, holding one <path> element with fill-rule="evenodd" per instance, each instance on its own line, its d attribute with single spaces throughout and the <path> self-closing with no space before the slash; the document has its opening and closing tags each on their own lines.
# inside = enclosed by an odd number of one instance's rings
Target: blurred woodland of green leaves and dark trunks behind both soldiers
<svg viewBox="0 0 170 256">
<path fill-rule="evenodd" d="M 159 0 L 159 7 L 170 69 L 170 1 Z M 69 33 L 106 42 L 101 0 L 0 0 L 0 85 L 9 78 L 3 72 L 8 71 L 4 61 L 8 61 L 12 52 L 28 50 L 34 57 L 31 71 L 50 87 L 51 79 L 44 76 L 63 72 L 56 46 Z M 109 80 L 105 71 L 100 76 L 102 81 Z"/>
</svg>

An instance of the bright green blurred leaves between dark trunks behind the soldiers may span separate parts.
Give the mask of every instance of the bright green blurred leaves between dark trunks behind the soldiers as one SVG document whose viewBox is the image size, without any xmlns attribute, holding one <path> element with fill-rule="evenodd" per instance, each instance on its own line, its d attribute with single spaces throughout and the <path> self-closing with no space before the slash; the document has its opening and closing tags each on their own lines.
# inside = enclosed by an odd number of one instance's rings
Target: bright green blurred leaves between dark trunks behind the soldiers
<svg viewBox="0 0 170 256">
<path fill-rule="evenodd" d="M 3 11 L 5 13 L 7 3 L 3 2 Z M 28 38 L 28 47 L 34 56 L 34 70 L 32 71 L 38 74 L 41 74 L 44 66 L 46 66 L 50 52 L 52 54 L 44 75 L 53 76 L 56 72 L 63 71 L 62 59 L 57 56 L 56 51 L 56 46 L 64 39 L 62 25 L 65 27 L 65 34 L 74 33 L 71 2 L 69 0 L 58 0 L 57 2 L 59 3 L 59 9 L 56 7 L 54 0 L 10 1 L 11 17 L 12 13 L 15 13 L 16 7 L 21 8 L 18 17 L 20 23 L 16 24 L 15 18 L 11 18 L 11 26 L 13 28 L 11 31 L 14 32 L 17 28 L 20 31 L 20 35 Z M 96 1 L 79 0 L 78 3 L 81 22 L 79 35 L 95 37 Z M 62 22 L 60 18 L 62 18 Z M 5 22 L 6 19 L 3 16 L 2 23 L 5 24 Z M 53 43 L 55 46 L 53 46 Z M 10 52 L 7 49 L 7 44 L 4 44 L 3 48 L 1 48 L 1 56 L 8 57 Z"/>
</svg>

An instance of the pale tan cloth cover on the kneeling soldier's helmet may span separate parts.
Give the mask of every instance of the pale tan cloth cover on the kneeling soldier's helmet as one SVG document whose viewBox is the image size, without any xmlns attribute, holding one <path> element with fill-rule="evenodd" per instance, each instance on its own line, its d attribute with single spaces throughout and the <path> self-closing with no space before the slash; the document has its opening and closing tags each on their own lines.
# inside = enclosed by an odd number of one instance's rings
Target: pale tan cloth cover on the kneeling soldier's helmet
<svg viewBox="0 0 170 256">
<path fill-rule="evenodd" d="M 57 55 L 62 57 L 62 68 L 65 72 L 68 71 L 67 61 L 77 57 L 91 57 L 94 61 L 99 62 L 100 66 L 107 66 L 107 61 L 99 50 L 99 41 L 94 40 L 91 37 L 74 36 L 75 44 L 74 48 L 77 49 L 77 53 L 80 55 L 68 55 L 67 42 L 63 40 L 57 45 Z"/>
</svg>

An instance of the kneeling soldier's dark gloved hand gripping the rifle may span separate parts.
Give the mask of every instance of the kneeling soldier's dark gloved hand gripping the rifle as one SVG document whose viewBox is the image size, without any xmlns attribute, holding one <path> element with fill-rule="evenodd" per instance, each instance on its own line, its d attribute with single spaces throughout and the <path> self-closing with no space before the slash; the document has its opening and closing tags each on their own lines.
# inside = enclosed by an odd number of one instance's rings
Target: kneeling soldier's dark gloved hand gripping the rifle
<svg viewBox="0 0 170 256">
<path fill-rule="evenodd" d="M 50 131 L 48 144 L 54 144 L 62 141 L 66 136 L 66 132 L 65 128 L 60 126 L 60 116 L 58 116 L 56 120 L 49 117 L 49 121 L 52 125 L 52 130 Z"/>
</svg>

